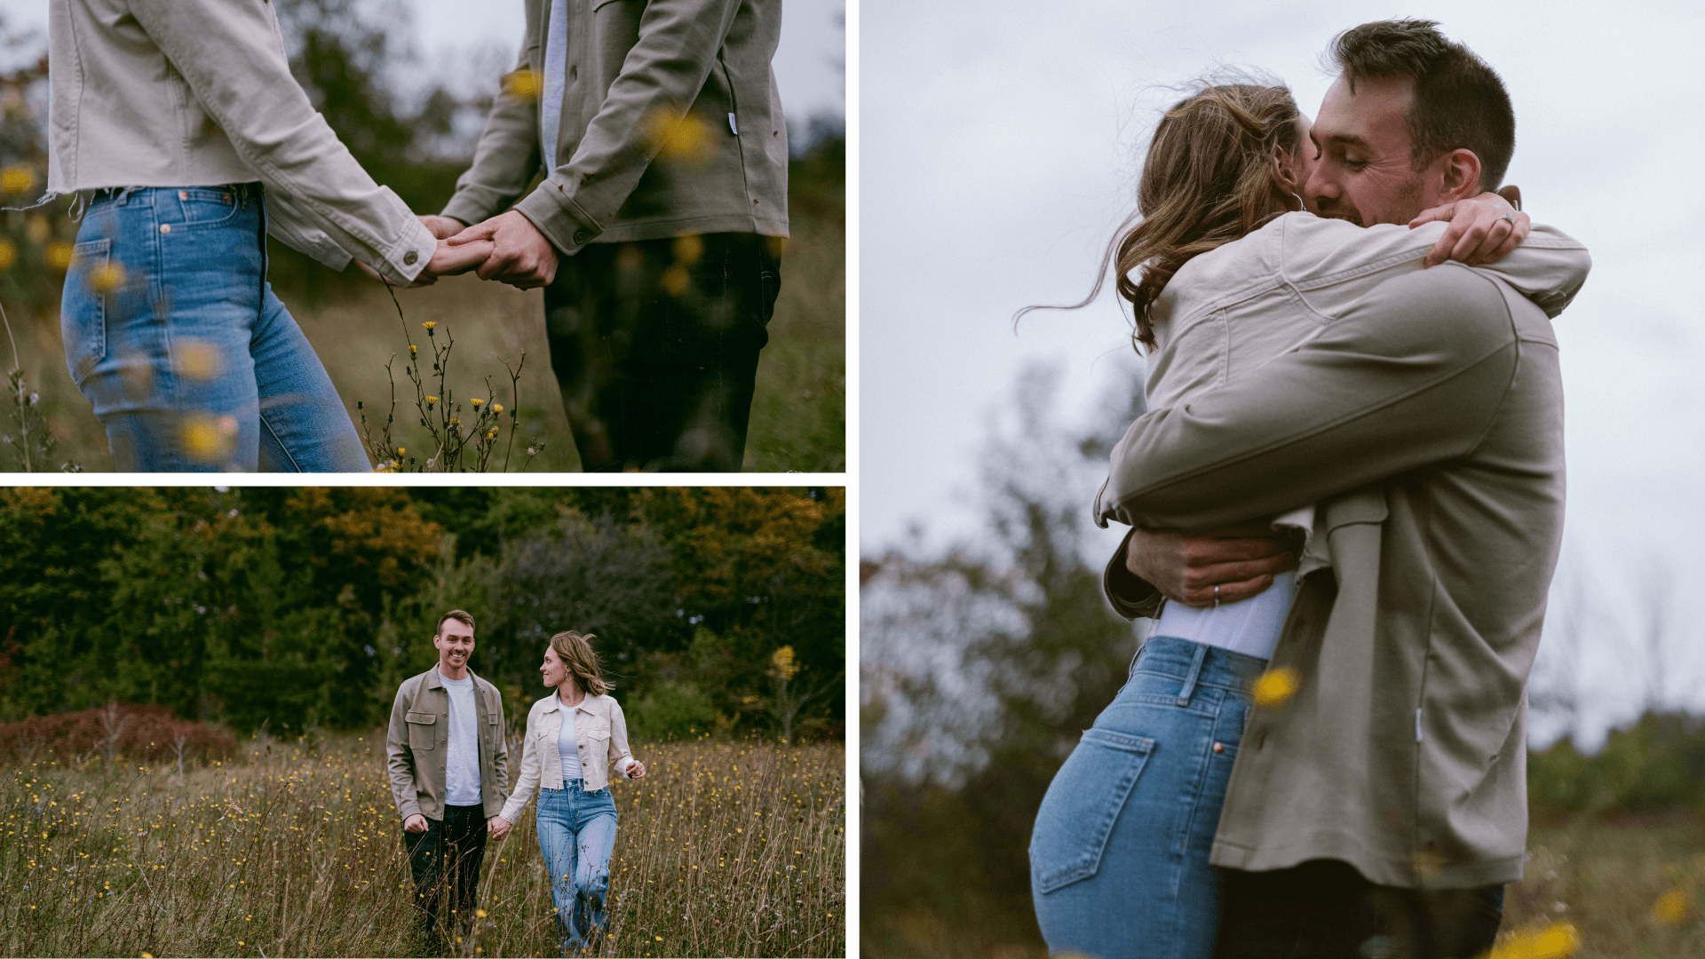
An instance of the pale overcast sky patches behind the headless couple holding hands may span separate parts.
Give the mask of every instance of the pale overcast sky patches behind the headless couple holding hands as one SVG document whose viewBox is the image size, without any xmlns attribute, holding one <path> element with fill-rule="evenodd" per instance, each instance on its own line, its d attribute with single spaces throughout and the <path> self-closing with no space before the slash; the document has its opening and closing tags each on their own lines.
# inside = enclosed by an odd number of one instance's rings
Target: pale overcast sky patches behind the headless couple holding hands
<svg viewBox="0 0 1705 959">
<path fill-rule="evenodd" d="M 455 63 L 469 61 L 474 49 L 496 48 L 496 63 L 513 65 L 527 27 L 522 0 L 404 0 L 413 12 L 413 46 L 421 60 L 407 78 L 430 80 L 435 58 L 450 55 Z M 776 51 L 776 85 L 789 123 L 803 125 L 815 114 L 846 116 L 846 29 L 844 0 L 786 0 L 781 46 Z M 48 0 L 0 0 L 0 15 L 9 27 L 34 27 L 41 43 L 48 38 Z M 404 38 L 406 39 L 406 38 Z M 7 51 L 0 51 L 7 56 Z M 496 77 L 489 78 L 496 87 Z"/>
</svg>

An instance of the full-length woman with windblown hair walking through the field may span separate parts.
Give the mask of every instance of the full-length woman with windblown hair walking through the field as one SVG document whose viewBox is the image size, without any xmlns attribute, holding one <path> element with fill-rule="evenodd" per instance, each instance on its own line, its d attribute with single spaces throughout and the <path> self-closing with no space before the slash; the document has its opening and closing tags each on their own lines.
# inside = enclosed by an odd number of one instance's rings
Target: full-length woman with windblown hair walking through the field
<svg viewBox="0 0 1705 959">
<path fill-rule="evenodd" d="M 534 703 L 522 742 L 522 773 L 503 804 L 503 828 L 520 817 L 539 788 L 539 851 L 551 874 L 551 901 L 561 923 L 563 952 L 595 950 L 604 935 L 604 896 L 616 848 L 616 800 L 607 766 L 629 780 L 644 763 L 627 753 L 627 720 L 598 676 L 598 654 L 580 633 L 558 633 L 539 674 L 556 693 Z"/>
</svg>

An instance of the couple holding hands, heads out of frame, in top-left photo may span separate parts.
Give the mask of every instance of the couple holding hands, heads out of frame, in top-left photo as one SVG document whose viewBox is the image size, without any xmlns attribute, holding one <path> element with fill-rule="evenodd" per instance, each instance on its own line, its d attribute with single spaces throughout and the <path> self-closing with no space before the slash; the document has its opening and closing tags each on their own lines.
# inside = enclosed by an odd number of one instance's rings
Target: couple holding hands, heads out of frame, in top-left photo
<svg viewBox="0 0 1705 959">
<path fill-rule="evenodd" d="M 418 217 L 290 75 L 269 2 L 51 2 L 48 189 L 84 206 L 65 360 L 118 469 L 372 469 L 268 235 L 396 287 L 544 287 L 583 469 L 740 469 L 788 235 L 781 0 L 525 5 L 472 166 Z"/>
</svg>

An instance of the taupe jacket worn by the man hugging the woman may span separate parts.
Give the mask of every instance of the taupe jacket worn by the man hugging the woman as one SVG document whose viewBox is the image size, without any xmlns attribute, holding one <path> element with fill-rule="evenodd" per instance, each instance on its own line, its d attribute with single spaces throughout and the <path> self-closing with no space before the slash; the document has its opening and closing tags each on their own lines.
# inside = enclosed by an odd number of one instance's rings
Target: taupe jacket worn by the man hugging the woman
<svg viewBox="0 0 1705 959">
<path fill-rule="evenodd" d="M 1212 862 L 1349 862 L 1384 886 L 1521 877 L 1528 671 L 1563 522 L 1563 396 L 1545 312 L 1456 263 L 1396 276 L 1320 334 L 1139 418 L 1103 505 L 1200 529 L 1316 503 Z M 1129 544 L 1129 536 L 1125 539 Z M 1158 592 L 1125 546 L 1107 590 Z"/>
</svg>

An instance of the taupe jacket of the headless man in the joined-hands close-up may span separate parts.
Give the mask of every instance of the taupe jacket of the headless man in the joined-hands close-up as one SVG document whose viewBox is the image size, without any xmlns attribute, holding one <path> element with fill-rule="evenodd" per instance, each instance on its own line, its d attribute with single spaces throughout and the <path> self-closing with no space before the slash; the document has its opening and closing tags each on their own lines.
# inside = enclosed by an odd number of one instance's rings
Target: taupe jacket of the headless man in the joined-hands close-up
<svg viewBox="0 0 1705 959">
<path fill-rule="evenodd" d="M 788 126 L 771 58 L 781 0 L 568 0 L 556 155 L 539 82 L 508 84 L 445 217 L 517 205 L 563 253 L 682 234 L 788 235 Z M 551 0 L 525 0 L 517 70 L 542 77 Z"/>
</svg>

